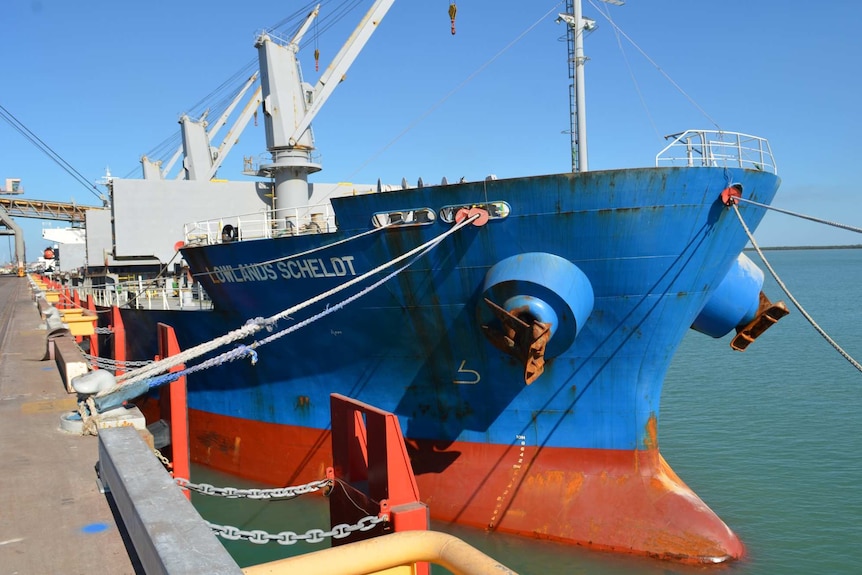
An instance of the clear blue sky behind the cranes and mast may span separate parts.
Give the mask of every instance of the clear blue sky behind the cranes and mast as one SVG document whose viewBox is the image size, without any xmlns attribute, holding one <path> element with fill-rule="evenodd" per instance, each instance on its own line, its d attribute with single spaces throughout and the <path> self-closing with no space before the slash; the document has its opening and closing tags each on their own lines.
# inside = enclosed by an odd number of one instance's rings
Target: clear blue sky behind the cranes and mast
<svg viewBox="0 0 862 575">
<path fill-rule="evenodd" d="M 584 0 L 584 14 L 599 24 L 586 45 L 591 169 L 652 165 L 664 135 L 717 124 L 769 139 L 783 182 L 776 206 L 862 226 L 862 3 L 594 2 Z M 321 17 L 341 3 L 323 2 Z M 202 98 L 256 60 L 257 33 L 305 5 L 9 0 L 0 105 L 87 181 L 107 167 L 139 177 L 140 156 L 178 134 L 180 114 L 202 109 Z M 309 32 L 307 81 L 318 77 L 314 47 L 323 70 L 368 5 L 320 25 L 316 42 Z M 565 30 L 555 23 L 564 3 L 457 6 L 452 36 L 449 0 L 395 3 L 313 124 L 324 168 L 314 180 L 435 182 L 570 169 Z M 628 41 L 620 48 L 605 11 L 685 95 Z M 219 177 L 242 179 L 243 156 L 265 151 L 263 123 L 249 126 Z M 0 180 L 7 177 L 21 178 L 30 199 L 98 204 L 0 122 Z M 47 245 L 43 224 L 17 221 L 35 259 Z M 774 213 L 755 238 L 764 246 L 862 243 L 858 234 Z M 8 244 L 0 243 L 0 260 Z"/>
</svg>

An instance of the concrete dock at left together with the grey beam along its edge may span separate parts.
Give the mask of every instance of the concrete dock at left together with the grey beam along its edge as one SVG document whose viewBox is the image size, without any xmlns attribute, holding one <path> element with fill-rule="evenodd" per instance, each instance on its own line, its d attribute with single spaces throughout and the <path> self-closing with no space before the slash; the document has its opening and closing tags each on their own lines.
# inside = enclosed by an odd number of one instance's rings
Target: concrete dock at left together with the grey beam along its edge
<svg viewBox="0 0 862 575">
<path fill-rule="evenodd" d="M 241 573 L 139 430 L 65 430 L 78 397 L 58 368 L 73 354 L 54 339 L 48 359 L 42 303 L 27 278 L 0 277 L 4 573 Z"/>
</svg>

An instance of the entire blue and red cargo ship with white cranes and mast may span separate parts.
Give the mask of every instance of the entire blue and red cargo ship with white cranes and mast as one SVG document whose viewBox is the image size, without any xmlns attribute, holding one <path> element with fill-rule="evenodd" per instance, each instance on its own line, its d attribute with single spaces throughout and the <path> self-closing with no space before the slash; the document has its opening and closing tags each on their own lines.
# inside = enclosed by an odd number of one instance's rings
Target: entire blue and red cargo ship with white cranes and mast
<svg viewBox="0 0 862 575">
<path fill-rule="evenodd" d="M 311 183 L 322 168 L 311 120 L 392 3 L 374 3 L 316 86 L 296 59 L 316 12 L 288 42 L 259 36 L 254 101 L 270 158 L 244 188 L 257 208 L 187 220 L 177 245 L 212 309 L 122 309 L 140 358 L 155 353 L 157 322 L 183 348 L 262 328 L 241 342 L 254 362 L 189 376 L 193 460 L 271 485 L 320 479 L 339 393 L 397 414 L 438 521 L 663 559 L 742 557 L 738 536 L 662 457 L 660 400 L 689 329 L 735 331 L 743 350 L 780 315 L 729 207 L 757 202 L 739 212 L 757 227 L 780 183 L 768 142 L 689 130 L 654 166 L 589 171 L 573 102 L 572 171 Z M 582 97 L 586 20 L 579 1 L 567 7 Z M 229 184 L 209 181 L 213 157 L 193 181 L 192 124 L 187 181 L 114 179 L 115 220 L 182 187 L 192 199 L 173 207 L 224 207 L 193 199 Z M 128 229 L 114 227 L 119 242 Z"/>
</svg>

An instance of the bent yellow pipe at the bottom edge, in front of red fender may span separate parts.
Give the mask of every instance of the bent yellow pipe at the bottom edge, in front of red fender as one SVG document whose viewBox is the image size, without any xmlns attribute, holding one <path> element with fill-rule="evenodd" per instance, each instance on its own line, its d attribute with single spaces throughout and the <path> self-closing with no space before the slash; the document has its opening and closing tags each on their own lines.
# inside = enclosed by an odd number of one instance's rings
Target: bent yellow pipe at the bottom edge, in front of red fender
<svg viewBox="0 0 862 575">
<path fill-rule="evenodd" d="M 428 561 L 455 575 L 517 575 L 464 541 L 437 531 L 402 531 L 381 537 L 279 559 L 242 570 L 245 575 L 368 575 Z"/>
</svg>

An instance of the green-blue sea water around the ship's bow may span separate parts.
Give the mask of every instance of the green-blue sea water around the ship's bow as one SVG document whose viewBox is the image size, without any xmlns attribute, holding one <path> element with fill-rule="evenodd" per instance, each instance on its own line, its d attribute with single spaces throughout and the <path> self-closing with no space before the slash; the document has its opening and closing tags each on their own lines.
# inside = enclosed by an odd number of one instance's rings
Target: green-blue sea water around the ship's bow
<svg viewBox="0 0 862 575">
<path fill-rule="evenodd" d="M 723 566 L 683 566 L 587 551 L 451 525 L 456 535 L 521 574 L 733 575 L 862 572 L 862 373 L 818 334 L 764 271 L 764 291 L 790 315 L 744 353 L 730 337 L 690 332 L 667 374 L 662 454 L 745 542 L 747 557 Z M 862 249 L 764 252 L 788 291 L 850 356 L 862 361 Z M 195 468 L 193 479 L 248 486 Z M 195 495 L 208 520 L 271 533 L 328 529 L 317 496 L 254 502 Z M 241 566 L 327 544 L 283 547 L 224 542 Z M 448 571 L 434 567 L 434 574 Z"/>
</svg>

